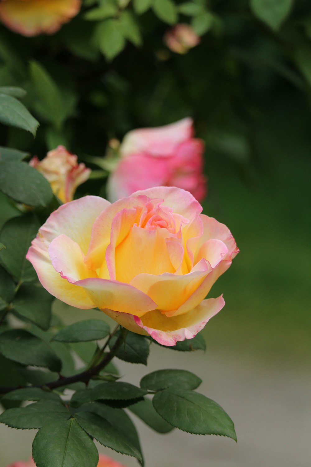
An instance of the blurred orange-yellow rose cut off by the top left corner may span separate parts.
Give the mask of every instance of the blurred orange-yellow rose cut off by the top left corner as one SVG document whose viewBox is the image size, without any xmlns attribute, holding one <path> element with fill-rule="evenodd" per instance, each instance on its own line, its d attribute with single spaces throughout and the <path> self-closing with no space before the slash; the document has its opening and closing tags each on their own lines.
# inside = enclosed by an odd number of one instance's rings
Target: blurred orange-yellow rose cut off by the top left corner
<svg viewBox="0 0 311 467">
<path fill-rule="evenodd" d="M 54 34 L 80 8 L 81 0 L 0 0 L 0 20 L 25 36 Z"/>
</svg>

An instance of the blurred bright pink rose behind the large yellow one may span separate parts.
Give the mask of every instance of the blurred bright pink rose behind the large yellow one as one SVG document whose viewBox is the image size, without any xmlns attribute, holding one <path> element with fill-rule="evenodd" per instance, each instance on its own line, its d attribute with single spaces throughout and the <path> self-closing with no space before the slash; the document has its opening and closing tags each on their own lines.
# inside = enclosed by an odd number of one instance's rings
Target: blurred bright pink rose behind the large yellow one
<svg viewBox="0 0 311 467">
<path fill-rule="evenodd" d="M 110 201 L 163 185 L 183 188 L 201 201 L 206 195 L 204 143 L 193 135 L 191 118 L 126 134 L 119 148 L 120 162 L 108 180 Z"/>
</svg>

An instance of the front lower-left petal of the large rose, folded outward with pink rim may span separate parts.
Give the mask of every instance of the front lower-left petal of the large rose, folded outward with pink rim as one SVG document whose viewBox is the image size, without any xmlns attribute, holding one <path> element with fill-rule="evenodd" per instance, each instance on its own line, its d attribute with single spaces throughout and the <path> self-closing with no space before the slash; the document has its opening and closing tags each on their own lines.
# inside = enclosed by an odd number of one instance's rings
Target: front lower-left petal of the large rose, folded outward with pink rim
<svg viewBox="0 0 311 467">
<path fill-rule="evenodd" d="M 100 309 L 130 313 L 137 316 L 154 310 L 157 304 L 130 284 L 100 278 L 89 278 L 75 282 L 83 288 L 92 302 Z"/>
</svg>

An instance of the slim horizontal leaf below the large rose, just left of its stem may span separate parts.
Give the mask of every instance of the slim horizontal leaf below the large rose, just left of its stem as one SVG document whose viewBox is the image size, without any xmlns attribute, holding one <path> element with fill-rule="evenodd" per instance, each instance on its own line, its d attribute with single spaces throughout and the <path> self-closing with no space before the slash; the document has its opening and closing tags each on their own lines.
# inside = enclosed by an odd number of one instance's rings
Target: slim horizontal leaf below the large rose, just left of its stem
<svg viewBox="0 0 311 467">
<path fill-rule="evenodd" d="M 57 333 L 53 340 L 60 342 L 85 342 L 104 339 L 110 333 L 107 323 L 101 319 L 85 319 L 71 324 Z"/>
</svg>

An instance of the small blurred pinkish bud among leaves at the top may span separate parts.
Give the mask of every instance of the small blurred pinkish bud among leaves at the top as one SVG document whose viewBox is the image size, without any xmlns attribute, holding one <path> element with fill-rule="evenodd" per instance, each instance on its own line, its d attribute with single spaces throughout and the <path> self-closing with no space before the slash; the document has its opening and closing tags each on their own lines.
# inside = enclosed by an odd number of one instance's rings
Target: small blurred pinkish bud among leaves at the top
<svg viewBox="0 0 311 467">
<path fill-rule="evenodd" d="M 200 43 L 200 37 L 188 24 L 177 24 L 164 36 L 166 46 L 178 54 L 185 54 Z"/>
</svg>

